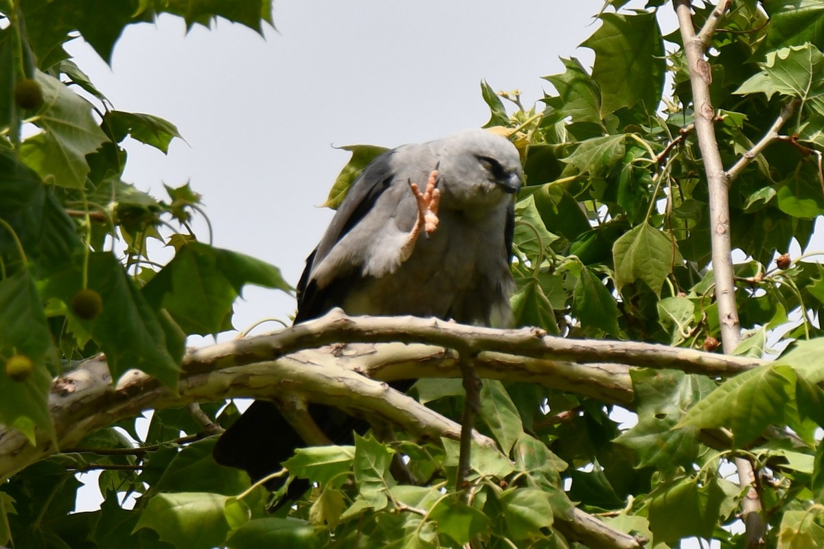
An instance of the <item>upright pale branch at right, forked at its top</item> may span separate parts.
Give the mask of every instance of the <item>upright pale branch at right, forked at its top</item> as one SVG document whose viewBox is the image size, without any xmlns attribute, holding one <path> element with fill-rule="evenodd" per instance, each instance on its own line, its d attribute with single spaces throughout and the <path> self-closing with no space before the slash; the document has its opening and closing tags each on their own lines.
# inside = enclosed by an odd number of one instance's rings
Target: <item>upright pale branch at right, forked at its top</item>
<svg viewBox="0 0 824 549">
<path fill-rule="evenodd" d="M 723 168 L 718 142 L 715 140 L 715 112 L 709 97 L 712 70 L 705 59 L 715 28 L 723 19 L 732 0 L 720 0 L 707 19 L 705 26 L 696 35 L 692 26 L 692 6 L 690 0 L 674 0 L 684 43 L 687 67 L 692 86 L 693 109 L 695 110 L 695 135 L 709 187 L 709 223 L 712 240 L 713 274 L 715 294 L 719 307 L 719 325 L 723 351 L 732 353 L 741 341 L 741 325 L 735 301 L 733 279 L 732 239 L 729 222 L 730 177 Z M 761 547 L 764 538 L 764 518 L 761 516 L 761 502 L 754 488 L 755 474 L 751 463 L 737 458 L 735 465 L 742 487 L 749 486 L 747 497 L 742 501 L 742 519 L 747 528 L 744 546 L 747 549 Z"/>
</svg>

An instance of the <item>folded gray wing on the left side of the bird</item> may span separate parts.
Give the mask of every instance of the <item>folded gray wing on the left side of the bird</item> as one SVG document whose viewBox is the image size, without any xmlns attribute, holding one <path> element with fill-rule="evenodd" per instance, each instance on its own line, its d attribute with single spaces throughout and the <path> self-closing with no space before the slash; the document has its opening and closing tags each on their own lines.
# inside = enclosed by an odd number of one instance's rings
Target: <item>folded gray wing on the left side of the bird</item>
<svg viewBox="0 0 824 549">
<path fill-rule="evenodd" d="M 437 163 L 427 147 L 405 145 L 363 170 L 307 258 L 297 283 L 296 323 L 343 305 L 364 277 L 382 277 L 398 267 L 418 212 L 409 182 L 423 186 Z"/>
</svg>

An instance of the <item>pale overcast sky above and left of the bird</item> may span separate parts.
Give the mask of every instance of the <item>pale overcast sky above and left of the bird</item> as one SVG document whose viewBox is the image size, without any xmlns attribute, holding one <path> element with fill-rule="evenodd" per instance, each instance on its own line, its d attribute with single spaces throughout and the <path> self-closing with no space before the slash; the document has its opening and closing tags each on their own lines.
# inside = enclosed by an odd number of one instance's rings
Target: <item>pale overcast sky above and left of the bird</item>
<svg viewBox="0 0 824 549">
<path fill-rule="evenodd" d="M 130 139 L 124 179 L 163 198 L 191 182 L 214 244 L 265 259 L 293 285 L 332 212 L 317 207 L 349 153 L 395 147 L 489 119 L 480 81 L 522 91 L 527 107 L 563 71 L 592 64 L 578 44 L 597 29 L 601 0 L 279 0 L 261 37 L 218 21 L 187 35 L 179 18 L 129 26 L 108 67 L 82 41 L 69 51 L 116 109 L 175 123 L 168 156 Z M 208 238 L 205 226 L 200 240 Z M 247 287 L 238 328 L 283 319 L 294 300 Z M 270 330 L 269 324 L 260 329 Z"/>
</svg>

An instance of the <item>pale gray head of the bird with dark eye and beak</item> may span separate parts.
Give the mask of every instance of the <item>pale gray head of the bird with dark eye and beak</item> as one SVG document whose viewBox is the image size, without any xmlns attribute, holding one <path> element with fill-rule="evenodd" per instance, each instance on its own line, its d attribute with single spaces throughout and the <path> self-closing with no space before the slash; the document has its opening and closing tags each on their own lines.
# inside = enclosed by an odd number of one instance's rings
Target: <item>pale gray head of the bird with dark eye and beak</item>
<svg viewBox="0 0 824 549">
<path fill-rule="evenodd" d="M 430 147 L 438 157 L 442 208 L 481 213 L 509 202 L 521 189 L 521 157 L 505 137 L 471 129 Z"/>
</svg>

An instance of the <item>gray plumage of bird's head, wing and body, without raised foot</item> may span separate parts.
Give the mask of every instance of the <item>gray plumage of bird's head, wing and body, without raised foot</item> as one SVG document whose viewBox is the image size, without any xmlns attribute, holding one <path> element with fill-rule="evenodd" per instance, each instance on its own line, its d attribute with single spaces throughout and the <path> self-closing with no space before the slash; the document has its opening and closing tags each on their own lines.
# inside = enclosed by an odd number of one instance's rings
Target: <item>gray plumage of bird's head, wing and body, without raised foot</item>
<svg viewBox="0 0 824 549">
<path fill-rule="evenodd" d="M 408 183 L 423 188 L 436 168 L 440 225 L 401 261 L 417 216 Z M 480 129 L 379 157 L 353 183 L 307 261 L 298 319 L 339 306 L 349 314 L 508 323 L 506 227 L 521 178 L 512 143 Z"/>
</svg>

